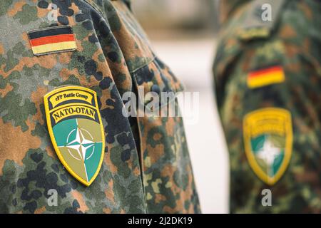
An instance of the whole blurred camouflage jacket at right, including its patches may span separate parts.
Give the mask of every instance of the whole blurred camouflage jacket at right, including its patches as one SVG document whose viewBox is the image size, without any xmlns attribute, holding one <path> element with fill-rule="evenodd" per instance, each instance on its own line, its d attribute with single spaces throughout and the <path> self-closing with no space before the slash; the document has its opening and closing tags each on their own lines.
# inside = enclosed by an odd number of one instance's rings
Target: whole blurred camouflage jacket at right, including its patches
<svg viewBox="0 0 321 228">
<path fill-rule="evenodd" d="M 321 212 L 320 28 L 316 0 L 250 1 L 223 25 L 213 72 L 230 212 Z"/>
</svg>

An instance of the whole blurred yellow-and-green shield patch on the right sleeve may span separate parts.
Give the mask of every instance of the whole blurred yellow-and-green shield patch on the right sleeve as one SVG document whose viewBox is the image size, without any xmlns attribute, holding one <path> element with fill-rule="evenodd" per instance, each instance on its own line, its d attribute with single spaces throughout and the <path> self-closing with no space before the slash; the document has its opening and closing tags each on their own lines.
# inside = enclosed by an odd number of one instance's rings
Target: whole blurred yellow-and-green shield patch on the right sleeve
<svg viewBox="0 0 321 228">
<path fill-rule="evenodd" d="M 255 174 L 274 185 L 284 174 L 292 154 L 292 120 L 282 108 L 263 108 L 243 120 L 245 153 Z"/>
</svg>

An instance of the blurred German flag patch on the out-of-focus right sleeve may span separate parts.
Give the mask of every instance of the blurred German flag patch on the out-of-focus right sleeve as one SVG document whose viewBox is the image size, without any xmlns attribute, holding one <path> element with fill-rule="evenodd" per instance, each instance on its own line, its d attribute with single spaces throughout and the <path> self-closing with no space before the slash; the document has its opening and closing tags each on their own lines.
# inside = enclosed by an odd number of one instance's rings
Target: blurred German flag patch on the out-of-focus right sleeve
<svg viewBox="0 0 321 228">
<path fill-rule="evenodd" d="M 285 73 L 282 66 L 272 66 L 269 68 L 251 71 L 248 74 L 248 88 L 259 88 L 285 81 Z"/>
</svg>

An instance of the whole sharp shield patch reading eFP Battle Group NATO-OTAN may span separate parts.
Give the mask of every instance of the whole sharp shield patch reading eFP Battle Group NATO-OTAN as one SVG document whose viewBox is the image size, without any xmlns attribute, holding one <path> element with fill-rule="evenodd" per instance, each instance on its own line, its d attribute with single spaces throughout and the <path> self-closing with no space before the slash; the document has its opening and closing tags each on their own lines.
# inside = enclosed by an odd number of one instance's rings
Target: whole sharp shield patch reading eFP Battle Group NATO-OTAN
<svg viewBox="0 0 321 228">
<path fill-rule="evenodd" d="M 59 160 L 79 182 L 91 185 L 101 169 L 105 148 L 96 92 L 64 86 L 47 93 L 44 105 Z"/>
</svg>

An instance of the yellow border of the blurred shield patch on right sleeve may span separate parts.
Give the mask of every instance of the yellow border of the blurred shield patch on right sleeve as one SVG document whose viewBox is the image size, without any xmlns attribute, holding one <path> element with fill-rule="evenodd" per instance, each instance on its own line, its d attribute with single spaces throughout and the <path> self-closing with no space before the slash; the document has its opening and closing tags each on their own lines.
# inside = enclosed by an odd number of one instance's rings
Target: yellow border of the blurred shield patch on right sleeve
<svg viewBox="0 0 321 228">
<path fill-rule="evenodd" d="M 269 177 L 258 165 L 258 163 L 255 160 L 255 156 L 253 155 L 253 152 L 251 152 L 251 145 L 250 145 L 250 133 L 249 129 L 247 128 L 247 123 L 250 119 L 255 118 L 256 116 L 262 116 L 262 115 L 277 115 L 281 116 L 285 119 L 285 157 L 282 162 L 282 165 L 279 170 L 277 170 L 277 173 L 274 177 Z M 243 118 L 243 140 L 244 140 L 244 147 L 245 147 L 245 155 L 248 158 L 248 162 L 250 164 L 250 167 L 255 172 L 255 175 L 257 175 L 260 180 L 265 182 L 267 185 L 275 185 L 275 183 L 280 180 L 282 175 L 284 174 L 285 170 L 287 169 L 287 166 L 290 164 L 290 159 L 292 156 L 292 140 L 293 140 L 293 133 L 292 133 L 292 118 L 289 111 L 282 109 L 282 108 L 263 108 L 260 110 L 255 110 L 251 113 L 248 113 Z"/>
</svg>

